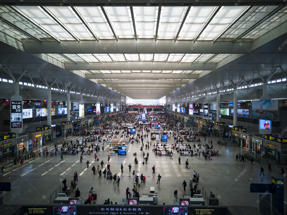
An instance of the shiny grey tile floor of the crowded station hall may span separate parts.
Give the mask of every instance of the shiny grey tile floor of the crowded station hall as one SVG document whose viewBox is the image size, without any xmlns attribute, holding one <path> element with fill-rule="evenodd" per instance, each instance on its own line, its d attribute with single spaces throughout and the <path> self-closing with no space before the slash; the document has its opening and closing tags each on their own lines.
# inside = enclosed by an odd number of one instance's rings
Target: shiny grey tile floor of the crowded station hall
<svg viewBox="0 0 287 215">
<path fill-rule="evenodd" d="M 188 127 L 189 128 L 189 127 Z M 68 138 L 75 140 L 75 137 Z M 214 137 L 207 137 L 207 140 L 216 140 Z M 81 139 L 80 139 L 81 140 Z M 146 141 L 150 141 L 150 135 Z M 168 140 L 168 144 L 174 143 Z M 101 143 L 102 144 L 102 143 Z M 49 146 L 49 150 L 54 147 Z M 64 161 L 60 162 L 60 156 L 41 157 L 36 160 L 28 160 L 23 166 L 4 163 L 5 173 L 0 175 L 0 181 L 13 181 L 11 192 L 7 192 L 3 196 L 4 204 L 50 204 L 50 195 L 59 187 L 62 187 L 63 178 L 67 178 L 68 183 L 73 180 L 73 173 L 77 171 L 78 179 L 77 188 L 81 192 L 81 197 L 85 198 L 91 187 L 97 193 L 96 204 L 103 204 L 105 199 L 110 199 L 113 203 L 121 204 L 121 199 L 124 198 L 127 187 L 132 189 L 134 180 L 132 178 L 132 171 L 138 171 L 137 175 L 144 174 L 148 176 L 146 183 L 142 183 L 139 187 L 139 194 L 148 194 L 150 187 L 155 187 L 155 192 L 158 193 L 158 204 L 174 203 L 174 190 L 178 190 L 178 197 L 188 195 L 188 189 L 183 191 L 183 180 L 189 183 L 189 178 L 193 177 L 193 171 L 199 173 L 199 189 L 204 189 L 207 195 L 212 191 L 216 197 L 220 198 L 220 205 L 244 205 L 254 206 L 257 208 L 259 204 L 256 202 L 259 198 L 258 193 L 250 193 L 248 184 L 249 179 L 252 178 L 252 183 L 271 183 L 271 176 L 281 178 L 280 169 L 285 165 L 273 165 L 272 172 L 268 171 L 266 159 L 265 164 L 251 165 L 250 161 L 236 162 L 235 156 L 237 153 L 246 153 L 240 147 L 228 147 L 222 145 L 215 145 L 214 148 L 221 152 L 221 156 L 205 161 L 201 156 L 198 157 L 181 156 L 181 165 L 178 162 L 179 154 L 176 152 L 173 155 L 173 160 L 169 156 L 155 156 L 152 148 L 148 151 L 150 156 L 148 164 L 142 164 L 143 157 L 140 153 L 140 144 L 129 144 L 127 156 L 111 156 L 110 165 L 113 175 L 117 173 L 121 176 L 120 186 L 113 185 L 113 180 L 106 180 L 102 177 L 99 179 L 98 174 L 93 175 L 92 166 L 100 165 L 101 160 L 104 161 L 104 167 L 108 160 L 108 145 L 105 143 L 104 152 L 99 152 L 99 162 L 94 161 L 94 155 L 84 156 L 84 161 L 79 162 L 80 155 L 64 155 Z M 134 164 L 134 152 L 137 152 L 138 164 Z M 144 150 L 145 153 L 147 152 Z M 189 159 L 190 169 L 185 168 L 185 161 Z M 86 161 L 90 161 L 90 167 L 87 169 Z M 121 163 L 124 165 L 123 173 L 121 173 Z M 129 173 L 128 165 L 131 164 L 132 169 Z M 152 174 L 152 166 L 156 166 L 156 174 Z M 260 166 L 265 169 L 265 176 L 259 176 Z M 157 175 L 162 176 L 160 184 L 157 184 Z M 238 177 L 238 175 L 240 177 Z M 130 177 L 131 176 L 131 177 Z M 58 189 L 59 191 L 59 189 Z M 286 189 L 285 189 L 286 194 Z M 206 195 L 206 197 L 207 197 Z M 74 194 L 70 195 L 74 196 Z M 286 196 L 286 195 L 285 195 Z M 52 195 L 55 198 L 55 193 Z M 207 204 L 207 199 L 206 203 Z"/>
</svg>

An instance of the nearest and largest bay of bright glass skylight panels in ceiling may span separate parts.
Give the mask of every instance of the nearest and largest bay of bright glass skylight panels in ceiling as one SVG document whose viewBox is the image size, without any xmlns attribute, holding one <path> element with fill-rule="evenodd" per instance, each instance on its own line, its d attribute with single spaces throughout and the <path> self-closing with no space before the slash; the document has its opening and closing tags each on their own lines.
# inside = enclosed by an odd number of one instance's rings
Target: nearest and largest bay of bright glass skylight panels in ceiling
<svg viewBox="0 0 287 215">
<path fill-rule="evenodd" d="M 0 6 L 1 16 L 41 41 L 56 40 L 110 40 L 115 37 L 135 38 L 130 7 L 73 7 L 73 6 Z M 183 27 L 179 26 L 187 13 L 187 6 L 161 7 L 158 39 L 172 40 L 179 32 L 178 40 L 219 40 L 253 41 L 287 20 L 286 7 L 274 16 L 268 17 L 254 30 L 245 33 L 259 20 L 265 18 L 278 6 L 208 6 L 191 7 Z M 158 7 L 133 6 L 133 16 L 137 38 L 153 39 L 156 33 Z M 216 12 L 216 10 L 219 11 Z M 249 11 L 247 11 L 249 10 Z M 240 19 L 241 14 L 247 11 Z M 106 13 L 106 16 L 104 15 Z M 21 15 L 20 15 L 21 14 Z M 212 18 L 212 16 L 214 18 Z M 109 22 L 110 21 L 110 25 Z M 205 27 L 206 23 L 210 23 Z M 83 23 L 84 22 L 84 23 Z M 86 24 L 87 27 L 84 25 Z M 11 33 L 3 26 L 2 32 L 16 39 L 25 37 Z M 231 26 L 231 27 L 230 27 Z M 230 27 L 230 28 L 229 28 Z M 227 31 L 226 29 L 229 28 Z M 113 34 L 115 31 L 115 35 Z M 200 34 L 200 32 L 202 33 Z M 243 34 L 245 33 L 245 34 Z M 242 35 L 243 34 L 243 35 Z M 25 34 L 24 34 L 25 35 Z M 241 36 L 241 38 L 237 38 Z M 27 37 L 27 35 L 26 35 Z M 95 38 L 96 37 L 96 38 Z M 29 38 L 29 36 L 28 36 Z M 33 41 L 33 38 L 29 38 Z M 177 62 L 170 56 L 169 62 Z M 172 59 L 172 57 L 174 59 Z M 121 57 L 120 57 L 121 58 Z M 115 61 L 124 61 L 123 58 Z M 142 56 L 142 61 L 150 61 L 150 56 Z"/>
</svg>

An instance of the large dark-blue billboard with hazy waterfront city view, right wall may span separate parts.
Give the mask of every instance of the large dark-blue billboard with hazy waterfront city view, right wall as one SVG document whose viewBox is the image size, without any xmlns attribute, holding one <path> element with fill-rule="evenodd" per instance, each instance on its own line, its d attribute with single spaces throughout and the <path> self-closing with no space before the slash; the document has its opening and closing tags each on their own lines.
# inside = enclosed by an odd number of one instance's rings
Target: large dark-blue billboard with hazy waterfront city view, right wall
<svg viewBox="0 0 287 215">
<path fill-rule="evenodd" d="M 278 100 L 252 101 L 252 118 L 278 121 Z"/>
</svg>

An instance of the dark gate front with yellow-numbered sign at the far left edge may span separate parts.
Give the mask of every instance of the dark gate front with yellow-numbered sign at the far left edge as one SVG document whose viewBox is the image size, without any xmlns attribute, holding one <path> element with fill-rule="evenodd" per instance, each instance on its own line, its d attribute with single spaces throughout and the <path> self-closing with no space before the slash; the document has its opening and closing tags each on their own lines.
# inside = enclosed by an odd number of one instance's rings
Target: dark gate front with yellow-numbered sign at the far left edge
<svg viewBox="0 0 287 215">
<path fill-rule="evenodd" d="M 13 156 L 14 152 L 15 154 L 17 153 L 15 137 L 16 137 L 15 133 L 9 133 L 9 134 L 0 136 L 0 143 L 1 143 L 0 158 L 11 157 Z"/>
</svg>

